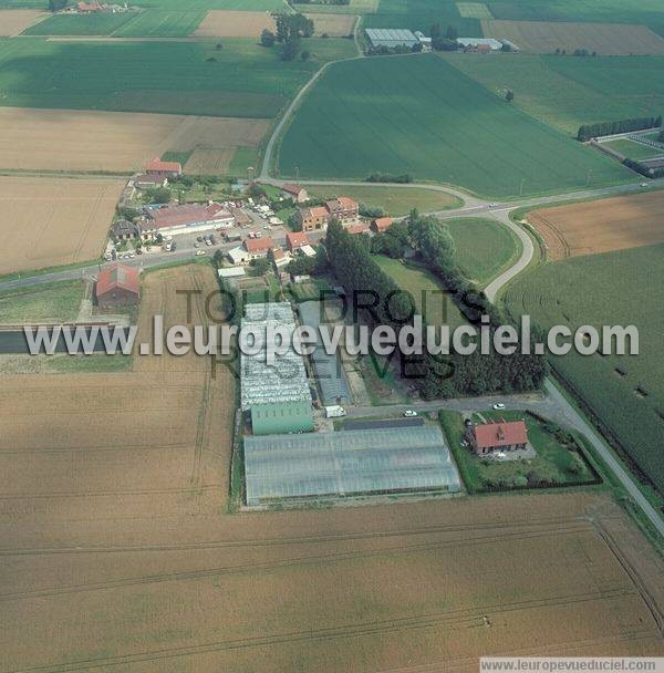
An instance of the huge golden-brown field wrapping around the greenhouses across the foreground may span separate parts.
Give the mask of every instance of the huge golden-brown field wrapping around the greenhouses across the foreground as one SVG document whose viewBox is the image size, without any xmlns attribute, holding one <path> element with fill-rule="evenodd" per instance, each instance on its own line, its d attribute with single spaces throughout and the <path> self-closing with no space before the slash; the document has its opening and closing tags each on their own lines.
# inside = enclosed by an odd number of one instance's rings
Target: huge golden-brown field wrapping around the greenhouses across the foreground
<svg viewBox="0 0 664 673">
<path fill-rule="evenodd" d="M 148 311 L 186 322 L 146 277 Z M 194 302 L 194 321 L 201 302 Z M 477 670 L 661 652 L 662 560 L 599 493 L 226 514 L 230 374 L 189 358 L 0 387 L 0 671 Z"/>
</svg>

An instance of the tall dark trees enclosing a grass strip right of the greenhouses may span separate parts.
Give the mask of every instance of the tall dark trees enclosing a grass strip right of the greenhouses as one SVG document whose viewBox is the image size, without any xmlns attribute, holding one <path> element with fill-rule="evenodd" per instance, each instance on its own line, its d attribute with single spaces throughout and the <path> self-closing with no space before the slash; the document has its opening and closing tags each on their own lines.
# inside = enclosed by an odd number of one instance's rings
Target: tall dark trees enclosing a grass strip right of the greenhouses
<svg viewBox="0 0 664 673">
<path fill-rule="evenodd" d="M 454 241 L 442 222 L 432 217 L 421 217 L 414 211 L 407 220 L 393 227 L 394 234 L 390 234 L 391 227 L 384 236 L 375 237 L 378 242 L 372 242 L 372 246 L 408 245 L 415 248 L 469 321 L 478 323 L 483 314 L 488 315 L 487 329 L 491 333 L 507 322 L 456 268 Z M 412 324 L 412 298 L 401 291 L 395 281 L 376 265 L 362 237 L 353 237 L 339 222 L 331 221 L 325 247 L 330 266 L 346 293 L 350 297 L 375 298 L 372 302 L 375 306 L 361 315 L 366 323 L 371 327 L 387 324 L 397 332 L 404 325 Z M 547 372 L 543 356 L 523 355 L 520 348 L 511 355 L 495 352 L 483 355 L 479 351 L 463 356 L 455 352 L 448 356 L 402 355 L 401 364 L 402 373 L 427 398 L 536 390 L 541 386 Z"/>
</svg>

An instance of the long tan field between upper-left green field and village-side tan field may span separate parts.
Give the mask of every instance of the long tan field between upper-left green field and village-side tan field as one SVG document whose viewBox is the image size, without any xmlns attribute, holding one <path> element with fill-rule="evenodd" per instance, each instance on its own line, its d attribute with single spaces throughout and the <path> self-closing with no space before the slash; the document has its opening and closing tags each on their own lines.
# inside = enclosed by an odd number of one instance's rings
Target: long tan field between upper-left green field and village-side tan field
<svg viewBox="0 0 664 673">
<path fill-rule="evenodd" d="M 267 120 L 0 108 L 0 169 L 139 170 L 165 152 L 258 145 Z"/>
</svg>

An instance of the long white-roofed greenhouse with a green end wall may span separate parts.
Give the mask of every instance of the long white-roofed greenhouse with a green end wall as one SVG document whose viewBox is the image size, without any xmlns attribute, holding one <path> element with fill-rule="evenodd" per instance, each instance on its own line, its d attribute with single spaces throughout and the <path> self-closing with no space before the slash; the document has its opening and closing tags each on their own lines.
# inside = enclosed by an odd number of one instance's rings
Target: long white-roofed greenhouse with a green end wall
<svg viewBox="0 0 664 673">
<path fill-rule="evenodd" d="M 299 433 L 313 429 L 312 397 L 302 355 L 290 348 L 267 360 L 268 328 L 295 329 L 289 302 L 253 303 L 245 308 L 242 329 L 255 336 L 252 351 L 241 353 L 240 406 L 250 417 L 255 435 Z"/>
</svg>

